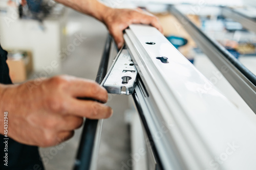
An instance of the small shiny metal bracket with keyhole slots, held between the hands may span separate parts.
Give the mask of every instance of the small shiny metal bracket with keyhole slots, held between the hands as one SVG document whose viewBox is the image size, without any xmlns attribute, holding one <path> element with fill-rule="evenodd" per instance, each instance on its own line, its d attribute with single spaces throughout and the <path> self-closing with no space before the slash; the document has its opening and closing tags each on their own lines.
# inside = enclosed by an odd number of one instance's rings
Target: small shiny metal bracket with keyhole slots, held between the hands
<svg viewBox="0 0 256 170">
<path fill-rule="evenodd" d="M 135 88 L 137 69 L 128 51 L 120 50 L 108 74 L 103 80 L 103 87 L 108 93 L 132 94 Z"/>
</svg>

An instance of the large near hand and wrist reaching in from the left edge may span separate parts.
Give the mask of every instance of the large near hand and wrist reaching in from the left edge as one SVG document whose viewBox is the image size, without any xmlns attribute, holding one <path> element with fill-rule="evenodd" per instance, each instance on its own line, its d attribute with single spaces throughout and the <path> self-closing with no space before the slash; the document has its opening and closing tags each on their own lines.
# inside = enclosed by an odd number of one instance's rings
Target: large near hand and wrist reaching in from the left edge
<svg viewBox="0 0 256 170">
<path fill-rule="evenodd" d="M 49 147 L 71 138 L 83 117 L 112 115 L 104 104 L 77 99 L 108 101 L 106 90 L 90 80 L 58 76 L 0 87 L 0 111 L 8 112 L 8 136 L 21 143 Z"/>
</svg>

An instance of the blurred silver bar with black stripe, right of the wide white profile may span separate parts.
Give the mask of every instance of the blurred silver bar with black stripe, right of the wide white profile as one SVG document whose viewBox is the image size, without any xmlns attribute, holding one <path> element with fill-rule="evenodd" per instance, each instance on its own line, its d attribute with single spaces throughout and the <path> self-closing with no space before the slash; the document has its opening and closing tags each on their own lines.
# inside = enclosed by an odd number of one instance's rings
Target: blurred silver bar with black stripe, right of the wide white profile
<svg viewBox="0 0 256 170">
<path fill-rule="evenodd" d="M 221 71 L 232 87 L 240 94 L 247 105 L 256 113 L 256 77 L 234 58 L 223 46 L 205 35 L 175 6 L 170 12 L 177 17 L 183 28 L 196 41 L 212 63 Z"/>
</svg>

